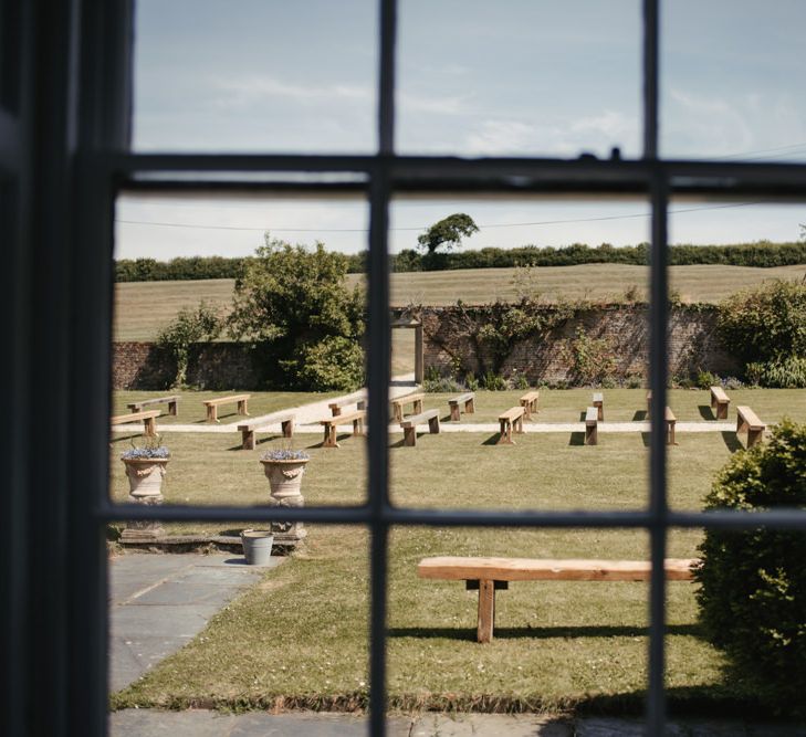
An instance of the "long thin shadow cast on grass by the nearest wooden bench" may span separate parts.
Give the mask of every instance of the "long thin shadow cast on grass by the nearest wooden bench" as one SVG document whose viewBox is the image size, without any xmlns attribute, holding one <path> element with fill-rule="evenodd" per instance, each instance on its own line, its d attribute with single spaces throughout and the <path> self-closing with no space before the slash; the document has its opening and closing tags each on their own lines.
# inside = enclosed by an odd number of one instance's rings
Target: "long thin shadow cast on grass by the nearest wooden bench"
<svg viewBox="0 0 806 737">
<path fill-rule="evenodd" d="M 475 642 L 475 629 L 470 627 L 398 627 L 387 630 L 389 638 L 421 638 L 427 640 L 472 640 Z M 667 634 L 684 636 L 702 636 L 699 624 L 670 624 Z M 552 640 L 556 638 L 648 638 L 648 627 L 601 625 L 589 627 L 496 627 L 495 640 Z"/>
</svg>

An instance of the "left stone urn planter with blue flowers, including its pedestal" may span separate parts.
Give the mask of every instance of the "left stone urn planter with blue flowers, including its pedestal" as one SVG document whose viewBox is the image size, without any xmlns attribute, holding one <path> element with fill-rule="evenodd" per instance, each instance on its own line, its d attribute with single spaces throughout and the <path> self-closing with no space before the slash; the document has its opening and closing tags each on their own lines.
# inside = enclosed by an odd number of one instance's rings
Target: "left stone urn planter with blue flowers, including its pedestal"
<svg viewBox="0 0 806 737">
<path fill-rule="evenodd" d="M 160 443 L 160 438 L 146 438 L 144 446 L 132 448 L 121 454 L 126 466 L 129 502 L 136 504 L 163 504 L 163 478 L 170 460 L 170 451 Z M 161 523 L 129 520 L 121 539 L 129 543 L 148 543 L 165 535 Z"/>
</svg>

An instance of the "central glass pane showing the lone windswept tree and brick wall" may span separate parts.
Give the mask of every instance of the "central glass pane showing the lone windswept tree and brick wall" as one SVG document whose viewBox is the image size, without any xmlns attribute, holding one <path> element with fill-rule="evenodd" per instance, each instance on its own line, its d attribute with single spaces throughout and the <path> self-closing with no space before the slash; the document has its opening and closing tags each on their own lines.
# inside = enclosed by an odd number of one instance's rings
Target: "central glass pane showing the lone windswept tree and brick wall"
<svg viewBox="0 0 806 737">
<path fill-rule="evenodd" d="M 392 400 L 395 504 L 646 505 L 647 238 L 640 200 L 394 203 L 392 312 L 423 345 L 421 389 L 392 387 L 419 392 Z"/>
</svg>

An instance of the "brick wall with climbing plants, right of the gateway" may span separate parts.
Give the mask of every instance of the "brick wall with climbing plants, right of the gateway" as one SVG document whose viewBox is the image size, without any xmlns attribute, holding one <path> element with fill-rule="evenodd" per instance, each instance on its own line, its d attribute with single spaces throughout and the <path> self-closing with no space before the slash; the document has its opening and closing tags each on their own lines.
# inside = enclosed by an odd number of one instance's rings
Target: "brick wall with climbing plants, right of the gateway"
<svg viewBox="0 0 806 737">
<path fill-rule="evenodd" d="M 425 333 L 426 371 L 448 375 L 452 366 L 477 375 L 491 370 L 494 354 L 472 334 L 488 319 L 481 308 L 423 307 L 419 313 Z M 593 339 L 605 339 L 616 360 L 616 376 L 646 378 L 649 355 L 649 315 L 643 305 L 614 305 L 577 312 L 546 335 L 516 343 L 501 373 L 522 375 L 530 383 L 572 380 L 563 350 L 582 327 Z M 669 371 L 689 377 L 699 369 L 721 376 L 735 375 L 739 364 L 722 348 L 715 331 L 716 313 L 708 306 L 674 307 L 670 315 Z"/>
</svg>

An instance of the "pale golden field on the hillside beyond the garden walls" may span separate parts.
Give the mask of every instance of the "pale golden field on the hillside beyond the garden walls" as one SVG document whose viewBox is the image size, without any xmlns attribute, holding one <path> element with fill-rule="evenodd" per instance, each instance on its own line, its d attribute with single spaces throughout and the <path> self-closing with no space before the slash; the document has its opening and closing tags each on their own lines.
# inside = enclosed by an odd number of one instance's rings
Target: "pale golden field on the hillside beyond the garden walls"
<svg viewBox="0 0 806 737">
<path fill-rule="evenodd" d="M 719 302 L 732 292 L 773 278 L 803 278 L 806 265 L 777 269 L 747 266 L 672 266 L 671 287 L 688 302 Z M 516 296 L 514 269 L 416 272 L 391 275 L 391 304 L 450 305 L 510 299 Z M 350 284 L 363 277 L 350 274 Z M 624 264 L 552 266 L 533 271 L 532 289 L 556 299 L 619 297 L 636 286 L 646 292 L 648 270 Z M 232 280 L 199 282 L 129 282 L 115 285 L 115 340 L 151 340 L 182 306 L 200 299 L 228 307 Z M 410 333 L 407 330 L 406 333 Z M 401 338 L 406 336 L 400 336 Z M 409 336 L 410 337 L 410 336 Z"/>
</svg>

